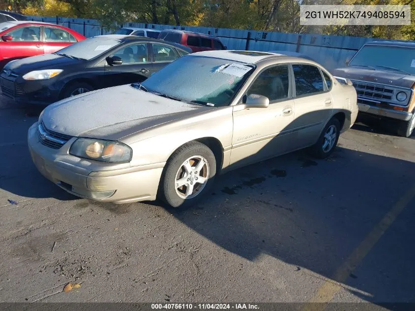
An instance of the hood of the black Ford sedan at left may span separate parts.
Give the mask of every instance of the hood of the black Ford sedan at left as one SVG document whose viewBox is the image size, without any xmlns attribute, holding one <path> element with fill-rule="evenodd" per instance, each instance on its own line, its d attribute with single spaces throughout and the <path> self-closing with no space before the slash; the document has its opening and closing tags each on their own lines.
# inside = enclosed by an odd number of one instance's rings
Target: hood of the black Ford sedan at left
<svg viewBox="0 0 415 311">
<path fill-rule="evenodd" d="M 19 75 L 24 75 L 33 70 L 72 67 L 82 61 L 56 54 L 45 54 L 11 61 L 6 65 L 5 69 L 10 69 Z"/>
</svg>

